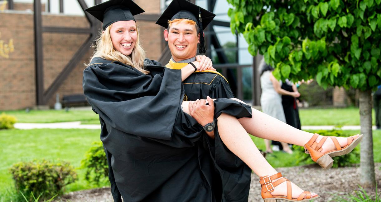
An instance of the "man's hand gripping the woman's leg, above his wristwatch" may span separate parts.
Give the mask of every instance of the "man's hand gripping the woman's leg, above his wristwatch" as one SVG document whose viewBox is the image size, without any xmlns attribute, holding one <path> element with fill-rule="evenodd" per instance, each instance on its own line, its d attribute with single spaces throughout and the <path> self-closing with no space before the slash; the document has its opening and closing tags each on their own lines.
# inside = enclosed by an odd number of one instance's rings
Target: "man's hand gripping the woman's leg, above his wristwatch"
<svg viewBox="0 0 381 202">
<path fill-rule="evenodd" d="M 209 105 L 206 105 L 206 101 L 208 101 Z M 197 99 L 196 101 L 191 101 L 189 103 L 189 112 L 191 116 L 202 126 L 212 123 L 214 117 L 213 99 L 208 96 L 207 100 Z M 214 131 L 207 132 L 207 134 L 209 137 L 213 139 L 215 138 Z"/>
</svg>

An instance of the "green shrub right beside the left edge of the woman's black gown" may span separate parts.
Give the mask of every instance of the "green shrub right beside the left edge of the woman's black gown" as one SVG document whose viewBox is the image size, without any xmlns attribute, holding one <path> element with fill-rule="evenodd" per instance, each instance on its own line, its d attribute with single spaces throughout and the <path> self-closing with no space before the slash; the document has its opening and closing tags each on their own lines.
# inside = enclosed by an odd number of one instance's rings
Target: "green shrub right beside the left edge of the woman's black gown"
<svg viewBox="0 0 381 202">
<path fill-rule="evenodd" d="M 81 168 L 86 169 L 85 179 L 96 185 L 109 177 L 109 166 L 107 165 L 106 153 L 104 152 L 102 142 L 93 142 L 86 158 L 81 161 Z"/>
</svg>

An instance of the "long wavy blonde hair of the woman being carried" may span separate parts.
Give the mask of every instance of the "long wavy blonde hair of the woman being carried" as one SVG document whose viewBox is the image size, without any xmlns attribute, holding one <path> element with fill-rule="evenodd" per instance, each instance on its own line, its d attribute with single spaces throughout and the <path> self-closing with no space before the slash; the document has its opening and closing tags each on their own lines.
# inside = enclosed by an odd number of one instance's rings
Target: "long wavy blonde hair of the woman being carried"
<svg viewBox="0 0 381 202">
<path fill-rule="evenodd" d="M 144 69 L 144 58 L 146 58 L 146 52 L 144 52 L 139 42 L 138 29 L 136 29 L 136 32 L 138 33 L 138 39 L 136 40 L 134 49 L 132 50 L 130 55 L 124 55 L 121 52 L 117 51 L 112 45 L 111 36 L 110 36 L 111 27 L 112 27 L 112 24 L 108 26 L 103 33 L 101 32 L 99 38 L 96 39 L 95 46 L 94 45 L 91 46 L 91 47 L 94 47 L 95 49 L 94 49 L 93 56 L 91 56 L 90 61 L 93 60 L 94 57 L 101 57 L 106 60 L 112 60 L 112 61 L 116 60 L 125 65 L 130 65 L 133 68 L 138 69 L 144 74 L 149 74 L 149 71 Z"/>
</svg>

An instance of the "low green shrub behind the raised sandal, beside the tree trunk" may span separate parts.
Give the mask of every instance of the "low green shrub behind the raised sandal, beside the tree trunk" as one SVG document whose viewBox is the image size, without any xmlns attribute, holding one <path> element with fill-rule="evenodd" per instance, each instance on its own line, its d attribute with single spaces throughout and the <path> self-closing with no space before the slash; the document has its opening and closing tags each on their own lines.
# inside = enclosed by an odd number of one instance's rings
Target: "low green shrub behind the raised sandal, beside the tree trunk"
<svg viewBox="0 0 381 202">
<path fill-rule="evenodd" d="M 345 134 L 343 130 L 338 128 L 334 128 L 332 130 L 320 130 L 316 131 L 317 134 L 323 135 L 323 136 L 335 136 L 335 137 L 349 137 L 352 134 Z M 299 147 L 297 145 L 293 146 L 293 150 L 296 153 L 296 164 L 311 164 L 314 163 L 312 161 L 310 155 L 307 155 L 304 153 L 304 147 Z M 336 156 L 333 157 L 333 166 L 332 167 L 345 167 L 345 166 L 352 166 L 355 163 L 358 163 L 360 159 L 360 149 L 359 147 L 354 148 L 351 153 L 343 156 Z"/>
</svg>

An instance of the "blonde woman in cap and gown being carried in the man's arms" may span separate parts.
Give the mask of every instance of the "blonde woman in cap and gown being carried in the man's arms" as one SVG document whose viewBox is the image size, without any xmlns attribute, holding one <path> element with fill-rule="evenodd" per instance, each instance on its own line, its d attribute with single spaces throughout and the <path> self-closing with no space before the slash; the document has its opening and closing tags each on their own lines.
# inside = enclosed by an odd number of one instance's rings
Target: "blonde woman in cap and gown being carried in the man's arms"
<svg viewBox="0 0 381 202">
<path fill-rule="evenodd" d="M 103 22 L 96 52 L 83 71 L 83 90 L 99 114 L 114 201 L 122 201 L 121 197 L 124 201 L 247 201 L 248 190 L 240 186 L 216 186 L 218 180 L 247 176 L 234 175 L 240 172 L 235 170 L 231 175 L 218 173 L 214 166 L 221 163 L 221 154 L 210 155 L 213 148 L 208 145 L 214 138 L 219 147 L 239 156 L 261 176 L 265 202 L 312 200 L 319 196 L 277 173 L 245 129 L 258 137 L 304 145 L 312 158 L 322 154 L 319 159 L 325 161 L 317 160 L 321 165 L 327 164 L 332 152 L 336 154 L 336 147 L 342 155 L 361 139 L 338 138 L 338 146 L 334 139 L 325 141 L 279 123 L 237 99 L 208 98 L 209 105 L 205 100 L 182 101 L 181 82 L 200 68 L 199 62 L 176 70 L 144 59 L 133 18 L 144 11 L 131 0 L 111 0 L 86 11 Z M 203 127 L 205 123 L 210 125 Z M 215 125 L 218 129 L 210 131 Z M 320 150 L 312 148 L 315 140 L 323 141 Z M 214 169 L 219 176 L 213 174 Z M 250 177 L 247 172 L 241 175 Z"/>
</svg>

